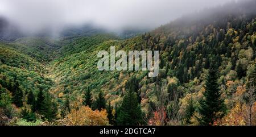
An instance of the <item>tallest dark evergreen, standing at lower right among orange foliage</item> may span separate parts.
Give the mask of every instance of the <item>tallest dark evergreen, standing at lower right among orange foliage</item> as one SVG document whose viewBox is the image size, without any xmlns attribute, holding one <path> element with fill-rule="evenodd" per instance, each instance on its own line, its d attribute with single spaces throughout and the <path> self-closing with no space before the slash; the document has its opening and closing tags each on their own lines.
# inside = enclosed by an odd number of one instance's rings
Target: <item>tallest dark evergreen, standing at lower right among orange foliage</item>
<svg viewBox="0 0 256 137">
<path fill-rule="evenodd" d="M 205 92 L 203 98 L 199 100 L 199 114 L 197 118 L 201 125 L 213 125 L 214 121 L 225 115 L 224 99 L 221 99 L 221 93 L 217 84 L 216 65 L 210 65 L 209 74 L 205 81 Z"/>
</svg>

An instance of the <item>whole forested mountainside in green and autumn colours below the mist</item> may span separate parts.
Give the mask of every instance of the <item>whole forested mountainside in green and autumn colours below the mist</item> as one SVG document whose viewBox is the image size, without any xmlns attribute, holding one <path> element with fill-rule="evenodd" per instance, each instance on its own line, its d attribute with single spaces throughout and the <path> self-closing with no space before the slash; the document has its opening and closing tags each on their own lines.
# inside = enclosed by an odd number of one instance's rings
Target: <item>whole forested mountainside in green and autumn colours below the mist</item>
<svg viewBox="0 0 256 137">
<path fill-rule="evenodd" d="M 255 7 L 229 3 L 125 40 L 1 42 L 0 124 L 255 125 Z M 110 46 L 159 51 L 158 77 L 98 70 Z"/>
</svg>

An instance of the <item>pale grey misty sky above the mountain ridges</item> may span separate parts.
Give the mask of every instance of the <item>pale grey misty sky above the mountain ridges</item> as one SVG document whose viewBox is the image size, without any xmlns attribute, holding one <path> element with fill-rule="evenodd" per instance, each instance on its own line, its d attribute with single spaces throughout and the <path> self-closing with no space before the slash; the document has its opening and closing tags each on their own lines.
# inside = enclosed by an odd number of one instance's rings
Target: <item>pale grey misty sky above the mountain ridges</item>
<svg viewBox="0 0 256 137">
<path fill-rule="evenodd" d="M 231 0 L 1 0 L 0 16 L 26 31 L 93 22 L 113 29 L 155 28 Z"/>
</svg>

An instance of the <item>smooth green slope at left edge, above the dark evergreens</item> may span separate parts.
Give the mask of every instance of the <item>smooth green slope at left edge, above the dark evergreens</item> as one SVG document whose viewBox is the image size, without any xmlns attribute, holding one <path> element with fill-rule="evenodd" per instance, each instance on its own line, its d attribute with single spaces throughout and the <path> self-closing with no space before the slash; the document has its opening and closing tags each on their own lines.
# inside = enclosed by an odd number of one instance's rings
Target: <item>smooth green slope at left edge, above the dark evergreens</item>
<svg viewBox="0 0 256 137">
<path fill-rule="evenodd" d="M 1 78 L 6 80 L 2 82 L 12 82 L 16 77 L 24 89 L 24 93 L 28 93 L 29 90 L 36 92 L 37 86 L 35 85 L 38 84 L 47 85 L 46 91 L 51 87 L 51 80 L 44 77 L 47 71 L 42 64 L 30 56 L 10 48 L 9 44 L 1 44 L 0 48 Z"/>
</svg>

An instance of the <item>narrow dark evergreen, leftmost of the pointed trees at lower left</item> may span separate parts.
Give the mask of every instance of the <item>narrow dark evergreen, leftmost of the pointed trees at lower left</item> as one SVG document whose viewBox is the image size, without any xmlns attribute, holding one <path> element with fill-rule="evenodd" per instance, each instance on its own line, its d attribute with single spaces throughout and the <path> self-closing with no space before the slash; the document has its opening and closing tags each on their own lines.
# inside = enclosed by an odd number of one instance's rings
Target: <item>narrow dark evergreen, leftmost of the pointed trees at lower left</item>
<svg viewBox="0 0 256 137">
<path fill-rule="evenodd" d="M 13 87 L 13 102 L 17 107 L 22 107 L 23 106 L 23 92 L 19 88 L 19 82 L 15 80 L 15 84 Z"/>
</svg>

